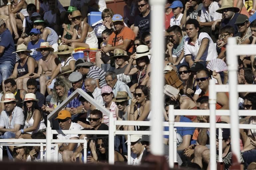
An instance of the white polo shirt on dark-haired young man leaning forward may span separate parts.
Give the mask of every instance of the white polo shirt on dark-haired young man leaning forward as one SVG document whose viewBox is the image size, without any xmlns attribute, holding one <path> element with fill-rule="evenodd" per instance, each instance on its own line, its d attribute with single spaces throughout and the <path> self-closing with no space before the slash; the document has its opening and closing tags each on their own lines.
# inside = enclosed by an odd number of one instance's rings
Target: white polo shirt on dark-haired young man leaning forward
<svg viewBox="0 0 256 170">
<path fill-rule="evenodd" d="M 197 56 L 198 50 L 201 46 L 201 42 L 203 39 L 207 38 L 209 40 L 207 47 L 201 56 L 201 60 L 210 61 L 211 59 L 217 58 L 218 54 L 216 51 L 216 47 L 211 39 L 211 37 L 207 33 L 198 33 L 199 36 L 195 42 L 195 44 L 191 43 L 191 39 L 188 37 L 184 42 L 184 56 L 191 55 L 192 60 L 194 60 Z"/>
</svg>

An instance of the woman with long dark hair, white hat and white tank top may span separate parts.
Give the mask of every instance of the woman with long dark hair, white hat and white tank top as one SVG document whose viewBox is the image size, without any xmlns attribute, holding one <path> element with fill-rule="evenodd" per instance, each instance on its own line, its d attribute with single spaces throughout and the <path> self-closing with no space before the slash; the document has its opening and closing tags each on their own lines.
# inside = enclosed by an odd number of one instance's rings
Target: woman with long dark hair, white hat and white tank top
<svg viewBox="0 0 256 170">
<path fill-rule="evenodd" d="M 37 105 L 38 99 L 34 93 L 27 93 L 24 97 L 24 129 L 16 132 L 16 138 L 31 139 L 32 133 L 46 128 L 44 116 Z"/>
</svg>

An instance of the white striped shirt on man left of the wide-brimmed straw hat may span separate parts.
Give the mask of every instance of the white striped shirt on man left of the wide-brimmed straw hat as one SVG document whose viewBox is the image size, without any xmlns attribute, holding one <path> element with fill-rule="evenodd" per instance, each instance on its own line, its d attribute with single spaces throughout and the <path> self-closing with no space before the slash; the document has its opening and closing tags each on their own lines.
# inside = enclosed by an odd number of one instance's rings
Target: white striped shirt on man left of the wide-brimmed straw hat
<svg viewBox="0 0 256 170">
<path fill-rule="evenodd" d="M 209 6 L 209 12 L 208 10 L 203 6 L 200 16 L 200 22 L 212 22 L 216 20 L 222 19 L 222 14 L 216 12 L 216 10 L 219 9 L 218 2 L 213 1 Z"/>
</svg>

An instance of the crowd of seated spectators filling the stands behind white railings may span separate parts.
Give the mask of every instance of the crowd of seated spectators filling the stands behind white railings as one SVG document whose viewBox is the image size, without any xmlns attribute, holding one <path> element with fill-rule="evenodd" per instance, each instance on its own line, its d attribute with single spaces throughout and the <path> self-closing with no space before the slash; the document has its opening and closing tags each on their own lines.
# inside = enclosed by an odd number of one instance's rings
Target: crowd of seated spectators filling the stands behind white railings
<svg viewBox="0 0 256 170">
<path fill-rule="evenodd" d="M 254 1 L 254 0 L 253 0 Z M 37 13 L 26 0 L 3 0 L 0 7 L 0 138 L 45 139 L 47 115 L 76 89 L 113 113 L 115 120 L 151 119 L 150 78 L 152 50 L 164 52 L 165 79 L 163 108 L 159 116 L 168 121 L 169 105 L 174 109 L 209 109 L 209 80 L 228 84 L 226 44 L 256 43 L 256 5 L 242 0 L 167 0 L 164 29 L 165 51 L 151 45 L 148 0 L 126 0 L 124 16 L 107 8 L 105 0 L 71 0 L 64 8 L 59 0 L 40 0 Z M 57 3 L 57 4 L 56 4 Z M 247 1 L 246 1 L 247 3 Z M 256 4 L 254 2 L 253 4 Z M 102 12 L 104 31 L 96 36 L 87 23 L 90 12 Z M 61 42 L 59 42 L 59 36 Z M 75 59 L 75 48 L 98 48 L 95 60 Z M 256 83 L 255 55 L 240 55 L 238 84 Z M 216 64 L 217 63 L 217 64 Z M 215 64 L 215 65 L 214 65 Z M 241 110 L 256 110 L 256 93 L 239 93 Z M 229 94 L 217 93 L 216 109 L 229 109 Z M 256 117 L 238 117 L 240 124 L 256 124 Z M 209 123 L 209 116 L 175 116 L 175 122 Z M 55 130 L 108 130 L 109 117 L 97 106 L 78 95 L 51 121 Z M 216 123 L 230 123 L 229 116 L 216 116 Z M 179 166 L 209 168 L 209 130 L 177 128 Z M 117 130 L 149 130 L 145 126 L 118 126 Z M 163 130 L 168 131 L 168 127 Z M 232 164 L 230 130 L 222 129 L 224 168 Z M 256 131 L 240 130 L 241 167 L 256 168 Z M 57 139 L 88 140 L 83 143 L 58 143 L 58 162 L 107 163 L 108 136 L 63 134 Z M 216 131 L 218 138 L 218 129 Z M 163 136 L 167 161 L 169 136 Z M 150 153 L 148 135 L 131 135 L 131 155 L 127 155 L 127 136 L 115 136 L 115 162 L 143 163 Z M 218 141 L 216 141 L 218 160 Z M 40 161 L 37 146 L 8 146 L 14 161 Z M 43 158 L 45 159 L 45 150 Z M 52 152 L 54 155 L 54 148 Z"/>
</svg>

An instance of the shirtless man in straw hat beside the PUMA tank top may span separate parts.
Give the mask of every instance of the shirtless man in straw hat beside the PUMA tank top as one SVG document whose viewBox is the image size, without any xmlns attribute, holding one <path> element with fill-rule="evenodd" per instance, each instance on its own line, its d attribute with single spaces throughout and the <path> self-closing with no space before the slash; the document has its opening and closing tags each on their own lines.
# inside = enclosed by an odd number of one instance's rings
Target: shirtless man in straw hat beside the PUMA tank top
<svg viewBox="0 0 256 170">
<path fill-rule="evenodd" d="M 52 53 L 54 49 L 50 47 L 49 42 L 41 42 L 40 48 L 36 50 L 41 51 L 43 58 L 38 61 L 37 73 L 33 73 L 34 75 L 30 76 L 30 78 L 39 78 L 40 93 L 45 95 L 46 81 L 52 76 L 52 71 L 54 71 L 59 64 L 59 59 Z M 49 93 L 50 89 L 47 88 L 47 91 Z"/>
</svg>

